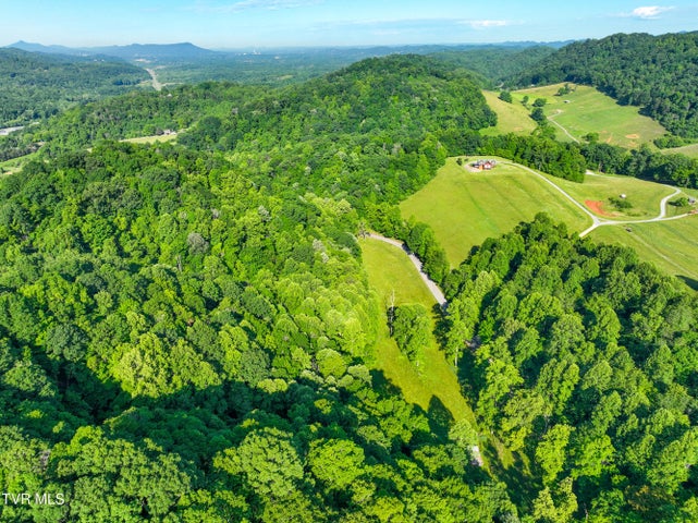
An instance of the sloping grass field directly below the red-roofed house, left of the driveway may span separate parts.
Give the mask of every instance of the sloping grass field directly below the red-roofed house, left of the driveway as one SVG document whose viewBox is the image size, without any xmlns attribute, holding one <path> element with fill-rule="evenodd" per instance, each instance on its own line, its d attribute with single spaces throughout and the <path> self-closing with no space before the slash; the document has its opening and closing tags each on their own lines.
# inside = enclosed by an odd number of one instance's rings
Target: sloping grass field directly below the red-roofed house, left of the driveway
<svg viewBox="0 0 698 523">
<path fill-rule="evenodd" d="M 554 187 L 518 167 L 499 165 L 490 172 L 475 173 L 458 166 L 455 158 L 449 158 L 437 177 L 400 207 L 405 218 L 414 216 L 432 227 L 453 267 L 474 245 L 530 221 L 540 211 L 571 230 L 591 224 Z"/>
</svg>

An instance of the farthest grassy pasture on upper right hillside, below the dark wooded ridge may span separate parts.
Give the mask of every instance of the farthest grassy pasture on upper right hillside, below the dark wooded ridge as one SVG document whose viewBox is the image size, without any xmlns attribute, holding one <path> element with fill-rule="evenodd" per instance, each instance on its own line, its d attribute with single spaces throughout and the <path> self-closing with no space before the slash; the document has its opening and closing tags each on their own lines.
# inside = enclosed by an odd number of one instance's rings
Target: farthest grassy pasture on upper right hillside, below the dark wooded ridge
<svg viewBox="0 0 698 523">
<path fill-rule="evenodd" d="M 658 122 L 639 113 L 637 107 L 620 106 L 609 96 L 593 87 L 576 86 L 573 93 L 555 96 L 563 84 L 523 89 L 512 93 L 514 102 L 528 96 L 529 104 L 536 98 L 546 98 L 543 108 L 548 117 L 565 127 L 576 139 L 588 133 L 599 133 L 599 141 L 622 147 L 637 147 L 665 133 Z M 575 87 L 575 86 L 573 86 Z M 555 126 L 558 139 L 570 141 Z"/>
</svg>

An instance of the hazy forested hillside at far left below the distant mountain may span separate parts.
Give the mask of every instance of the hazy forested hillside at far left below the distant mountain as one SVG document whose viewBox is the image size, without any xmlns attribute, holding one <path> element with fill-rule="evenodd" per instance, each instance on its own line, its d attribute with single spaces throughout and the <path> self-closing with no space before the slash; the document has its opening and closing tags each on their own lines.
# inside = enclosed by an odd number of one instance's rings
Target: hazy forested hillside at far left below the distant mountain
<svg viewBox="0 0 698 523">
<path fill-rule="evenodd" d="M 0 127 L 126 93 L 147 80 L 143 69 L 115 60 L 0 49 Z"/>
</svg>

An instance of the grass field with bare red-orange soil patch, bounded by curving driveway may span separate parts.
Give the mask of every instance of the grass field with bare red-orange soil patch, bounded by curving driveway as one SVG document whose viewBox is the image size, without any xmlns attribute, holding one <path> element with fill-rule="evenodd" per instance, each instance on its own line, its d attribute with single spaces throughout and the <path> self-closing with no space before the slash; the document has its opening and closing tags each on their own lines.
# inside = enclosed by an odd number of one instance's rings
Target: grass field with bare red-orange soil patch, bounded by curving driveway
<svg viewBox="0 0 698 523">
<path fill-rule="evenodd" d="M 554 180 L 579 203 L 602 202 L 605 212 L 599 216 L 617 220 L 654 218 L 660 212 L 661 199 L 674 192 L 672 187 L 630 177 L 587 175 L 584 183 L 552 178 L 551 180 Z M 633 207 L 620 210 L 611 205 L 609 198 L 619 198 L 621 194 L 626 195 L 626 202 Z M 671 206 L 668 207 L 671 209 Z"/>
</svg>

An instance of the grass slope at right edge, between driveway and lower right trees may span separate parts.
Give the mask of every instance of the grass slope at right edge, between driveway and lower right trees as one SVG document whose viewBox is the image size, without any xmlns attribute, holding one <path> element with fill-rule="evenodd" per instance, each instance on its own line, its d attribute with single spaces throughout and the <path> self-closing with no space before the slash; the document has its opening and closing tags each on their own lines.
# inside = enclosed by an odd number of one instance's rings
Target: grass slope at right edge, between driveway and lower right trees
<svg viewBox="0 0 698 523">
<path fill-rule="evenodd" d="M 627 245 L 640 258 L 650 262 L 661 271 L 679 277 L 698 290 L 698 216 L 678 220 L 634 223 L 628 227 L 600 227 L 588 238 L 595 242 Z M 686 280 L 688 279 L 688 280 Z"/>
</svg>

